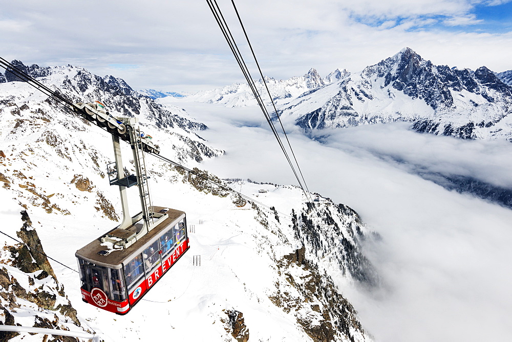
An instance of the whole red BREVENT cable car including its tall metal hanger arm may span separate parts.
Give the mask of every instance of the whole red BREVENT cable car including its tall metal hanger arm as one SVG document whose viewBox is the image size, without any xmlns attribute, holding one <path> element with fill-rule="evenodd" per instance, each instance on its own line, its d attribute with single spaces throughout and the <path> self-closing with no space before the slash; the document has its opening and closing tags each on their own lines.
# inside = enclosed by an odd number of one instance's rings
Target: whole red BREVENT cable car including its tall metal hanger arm
<svg viewBox="0 0 512 342">
<path fill-rule="evenodd" d="M 121 194 L 123 221 L 106 235 L 78 249 L 82 300 L 106 311 L 126 314 L 188 250 L 185 212 L 154 207 L 147 184 L 142 134 L 135 118 L 123 120 L 137 175 L 124 175 L 119 138 L 113 135 L 115 167 L 108 166 L 111 185 Z M 126 188 L 137 185 L 142 211 L 131 217 Z"/>
</svg>

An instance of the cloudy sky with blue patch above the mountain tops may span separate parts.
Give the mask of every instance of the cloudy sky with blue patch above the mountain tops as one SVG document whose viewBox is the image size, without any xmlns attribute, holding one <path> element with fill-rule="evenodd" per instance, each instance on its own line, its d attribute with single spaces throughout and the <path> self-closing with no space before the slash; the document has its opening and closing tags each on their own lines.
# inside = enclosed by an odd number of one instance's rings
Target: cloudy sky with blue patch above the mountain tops
<svg viewBox="0 0 512 342">
<path fill-rule="evenodd" d="M 231 2 L 218 3 L 247 53 Z M 357 72 L 403 47 L 434 64 L 512 69 L 511 1 L 238 0 L 237 7 L 264 74 L 274 78 L 311 67 L 323 76 Z M 204 0 L 13 2 L 0 13 L 0 29 L 9 33 L 0 40 L 6 59 L 80 65 L 134 88 L 193 92 L 243 81 Z"/>
</svg>

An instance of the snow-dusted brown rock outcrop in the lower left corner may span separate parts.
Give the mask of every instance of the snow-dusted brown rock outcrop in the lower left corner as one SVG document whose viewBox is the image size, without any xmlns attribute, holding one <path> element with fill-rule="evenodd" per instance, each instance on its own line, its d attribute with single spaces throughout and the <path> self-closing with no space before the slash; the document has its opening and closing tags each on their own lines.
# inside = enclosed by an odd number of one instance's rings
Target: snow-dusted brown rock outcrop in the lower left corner
<svg viewBox="0 0 512 342">
<path fill-rule="evenodd" d="M 22 243 L 6 245 L 0 252 L 0 324 L 91 332 L 59 284 L 27 211 L 20 212 L 19 223 L 16 235 Z M 0 339 L 18 335 L 2 331 Z M 77 339 L 55 336 L 52 340 Z"/>
</svg>

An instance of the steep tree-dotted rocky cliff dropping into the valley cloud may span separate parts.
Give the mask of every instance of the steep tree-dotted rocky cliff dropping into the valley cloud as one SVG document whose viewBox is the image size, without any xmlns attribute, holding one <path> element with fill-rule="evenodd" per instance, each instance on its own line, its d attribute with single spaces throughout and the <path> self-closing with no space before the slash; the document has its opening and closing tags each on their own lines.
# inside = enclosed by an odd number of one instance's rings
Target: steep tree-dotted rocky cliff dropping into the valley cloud
<svg viewBox="0 0 512 342">
<path fill-rule="evenodd" d="M 281 243 L 301 246 L 289 254 L 274 255 L 278 277 L 269 295 L 272 303 L 294 315 L 315 342 L 368 338 L 356 310 L 336 284 L 350 279 L 365 287 L 379 285 L 375 269 L 361 253 L 361 241 L 372 233 L 357 213 L 321 198 L 292 209 L 291 225 L 285 228 L 285 218 L 275 209 L 269 213 L 255 204 L 252 207 L 258 211 L 257 220 Z"/>
</svg>

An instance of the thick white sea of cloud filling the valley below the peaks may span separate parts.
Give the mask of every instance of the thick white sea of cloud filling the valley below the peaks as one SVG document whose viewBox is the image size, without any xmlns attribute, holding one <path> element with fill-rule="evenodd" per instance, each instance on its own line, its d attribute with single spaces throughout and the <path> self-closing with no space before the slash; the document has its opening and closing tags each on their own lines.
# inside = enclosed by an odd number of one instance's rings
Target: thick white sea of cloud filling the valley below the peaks
<svg viewBox="0 0 512 342">
<path fill-rule="evenodd" d="M 209 144 L 227 151 L 207 169 L 294 183 L 259 109 L 179 105 L 211 127 L 204 132 Z M 240 127 L 244 121 L 262 126 Z M 378 293 L 343 287 L 376 340 L 507 340 L 512 211 L 446 191 L 411 174 L 407 163 L 512 186 L 509 143 L 419 134 L 392 124 L 340 129 L 320 145 L 286 129 L 309 189 L 347 204 L 382 236 L 366 253 L 386 286 Z"/>
</svg>

